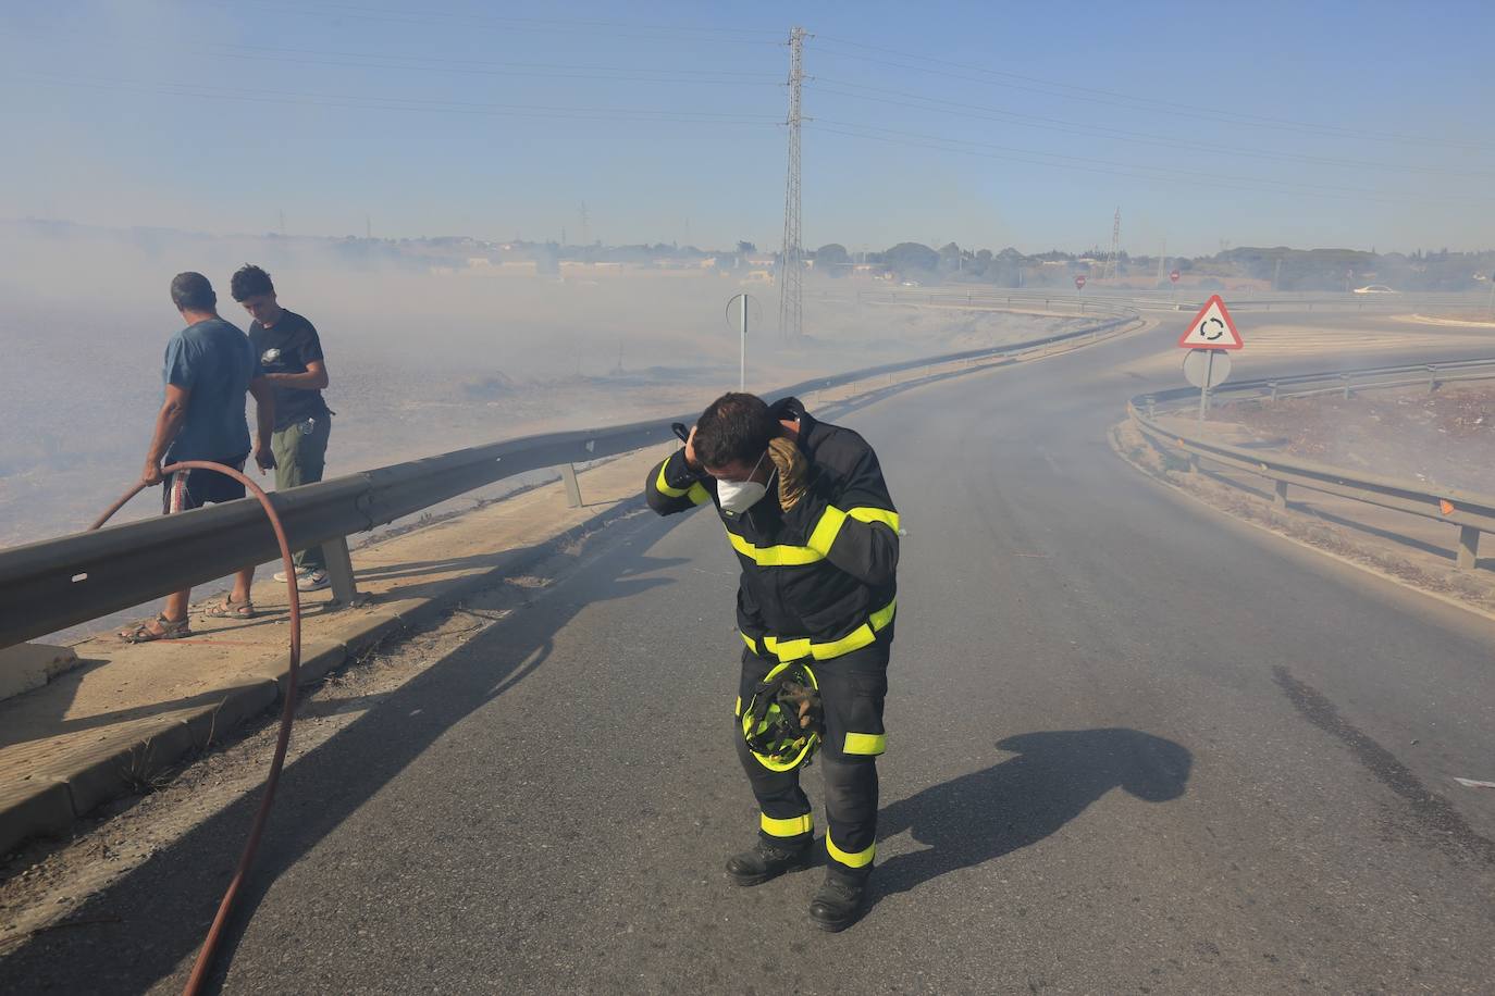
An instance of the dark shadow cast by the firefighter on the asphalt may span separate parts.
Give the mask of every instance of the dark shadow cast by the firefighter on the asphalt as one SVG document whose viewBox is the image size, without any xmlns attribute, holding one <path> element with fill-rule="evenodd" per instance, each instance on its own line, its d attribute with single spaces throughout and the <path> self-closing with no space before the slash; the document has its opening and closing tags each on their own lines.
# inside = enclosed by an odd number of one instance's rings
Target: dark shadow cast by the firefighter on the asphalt
<svg viewBox="0 0 1495 996">
<path fill-rule="evenodd" d="M 879 838 L 909 830 L 927 847 L 878 869 L 879 896 L 1036 844 L 1112 788 L 1147 802 L 1178 799 L 1193 765 L 1174 741 L 1126 729 L 1021 733 L 997 748 L 1017 757 L 884 808 Z"/>
</svg>

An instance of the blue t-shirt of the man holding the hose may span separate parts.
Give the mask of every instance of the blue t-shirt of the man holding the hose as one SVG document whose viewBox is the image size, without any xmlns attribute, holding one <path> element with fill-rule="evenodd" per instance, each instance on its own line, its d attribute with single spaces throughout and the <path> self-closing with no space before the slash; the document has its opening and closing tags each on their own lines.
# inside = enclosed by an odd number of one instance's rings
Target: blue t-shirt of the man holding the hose
<svg viewBox="0 0 1495 996">
<path fill-rule="evenodd" d="M 244 394 L 262 375 L 250 339 L 221 318 L 188 326 L 166 343 L 161 379 L 187 388 L 187 418 L 166 451 L 173 460 L 236 460 L 250 451 Z"/>
</svg>

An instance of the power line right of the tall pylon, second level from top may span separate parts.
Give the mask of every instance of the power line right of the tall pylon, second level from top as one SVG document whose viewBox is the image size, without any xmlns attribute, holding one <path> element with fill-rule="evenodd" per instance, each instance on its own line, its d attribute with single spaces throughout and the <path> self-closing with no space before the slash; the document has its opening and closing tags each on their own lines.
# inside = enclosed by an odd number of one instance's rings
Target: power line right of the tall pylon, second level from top
<svg viewBox="0 0 1495 996">
<path fill-rule="evenodd" d="M 1174 139 L 1160 134 L 1148 134 L 1144 131 L 1127 131 L 1124 128 L 1112 128 L 1109 125 L 1088 125 L 1073 121 L 1064 121 L 1063 118 L 1046 118 L 1042 115 L 1023 113 L 1018 111 L 1008 111 L 1005 108 L 991 108 L 987 105 L 966 103 L 961 100 L 949 100 L 945 97 L 925 97 L 922 94 L 913 94 L 901 90 L 888 90 L 885 87 L 870 87 L 866 84 L 843 82 L 839 79 L 827 79 L 824 76 L 815 76 L 810 84 L 815 87 L 816 93 L 828 94 L 833 97 L 851 97 L 854 100 L 867 100 L 876 103 L 885 103 L 897 108 L 912 108 L 915 111 L 934 111 L 939 113 L 948 113 L 951 116 L 969 118 L 975 121 L 999 121 L 1003 124 L 1018 124 L 1021 127 L 1041 128 L 1045 131 L 1058 131 L 1063 134 L 1076 134 L 1087 139 L 1108 137 L 1120 142 L 1133 142 L 1139 145 L 1157 145 L 1163 148 L 1177 148 L 1189 152 L 1220 152 L 1230 157 L 1257 158 L 1280 163 L 1307 163 L 1314 166 L 1351 166 L 1362 169 L 1381 169 L 1393 172 L 1407 173 L 1428 173 L 1434 176 L 1467 176 L 1471 179 L 1491 179 L 1495 178 L 1495 172 L 1473 172 L 1473 170 L 1444 170 L 1431 166 L 1404 166 L 1398 163 L 1374 163 L 1366 160 L 1347 160 L 1337 157 L 1323 155 L 1305 155 L 1301 152 L 1260 152 L 1256 149 L 1247 149 L 1229 145 L 1212 145 L 1206 142 L 1193 142 L 1184 139 Z M 825 84 L 831 84 L 827 87 Z M 851 87 L 852 90 L 843 90 Z M 866 90 L 867 94 L 855 93 L 855 90 Z M 890 97 L 906 97 L 907 100 L 891 100 Z M 918 103 L 910 103 L 918 102 Z"/>
</svg>

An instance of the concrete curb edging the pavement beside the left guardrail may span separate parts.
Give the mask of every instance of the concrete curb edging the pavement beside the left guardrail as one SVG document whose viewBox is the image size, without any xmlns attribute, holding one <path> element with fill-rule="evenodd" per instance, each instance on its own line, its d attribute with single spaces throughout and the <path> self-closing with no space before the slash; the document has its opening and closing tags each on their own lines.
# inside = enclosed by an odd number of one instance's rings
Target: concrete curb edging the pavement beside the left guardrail
<svg viewBox="0 0 1495 996">
<path fill-rule="evenodd" d="M 501 557 L 481 572 L 459 578 L 438 594 L 413 599 L 399 611 L 374 611 L 339 639 L 318 639 L 302 650 L 299 687 L 321 681 L 365 651 L 450 608 L 474 591 L 493 587 L 504 576 L 553 555 L 577 533 L 607 526 L 644 508 L 641 496 L 623 499 L 592 518 L 540 544 Z M 161 720 L 126 745 L 111 745 L 97 754 L 79 754 L 66 775 L 39 776 L 21 790 L 0 794 L 0 856 L 37 836 L 66 836 L 76 820 L 93 809 L 148 788 L 178 762 L 199 754 L 227 733 L 262 715 L 284 699 L 290 681 L 289 662 L 277 657 L 272 670 L 247 672 L 230 679 L 214 705 L 197 706 Z"/>
</svg>

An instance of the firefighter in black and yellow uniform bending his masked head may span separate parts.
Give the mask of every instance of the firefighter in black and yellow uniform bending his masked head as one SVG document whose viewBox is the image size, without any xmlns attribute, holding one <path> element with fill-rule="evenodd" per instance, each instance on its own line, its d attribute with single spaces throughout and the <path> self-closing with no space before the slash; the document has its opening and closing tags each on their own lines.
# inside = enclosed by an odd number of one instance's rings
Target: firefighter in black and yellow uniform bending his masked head
<svg viewBox="0 0 1495 996">
<path fill-rule="evenodd" d="M 810 920 L 851 926 L 872 874 L 882 702 L 896 612 L 898 512 L 878 454 L 797 399 L 724 394 L 644 485 L 661 515 L 712 502 L 742 563 L 737 753 L 761 809 L 758 844 L 727 863 L 756 885 L 812 860 L 800 768 L 822 747 L 825 883 Z M 795 705 L 798 703 L 798 705 Z M 783 733 L 765 733 L 770 720 Z M 795 723 L 797 721 L 797 723 Z M 788 723 L 788 727 L 783 726 Z M 755 733 L 758 735 L 755 738 Z"/>
</svg>

